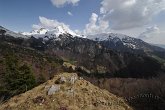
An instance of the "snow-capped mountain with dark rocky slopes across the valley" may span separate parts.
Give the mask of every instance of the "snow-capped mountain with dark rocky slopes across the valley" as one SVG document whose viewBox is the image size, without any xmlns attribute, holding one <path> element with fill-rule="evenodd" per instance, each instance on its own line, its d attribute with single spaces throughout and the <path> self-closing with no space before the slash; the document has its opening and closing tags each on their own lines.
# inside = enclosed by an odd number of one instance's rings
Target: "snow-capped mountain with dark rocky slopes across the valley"
<svg viewBox="0 0 165 110">
<path fill-rule="evenodd" d="M 146 74 L 146 71 L 144 71 L 146 69 L 143 69 L 143 67 L 147 68 L 148 65 L 152 66 L 152 64 L 157 65 L 152 57 L 159 60 L 165 59 L 165 49 L 150 45 L 140 39 L 114 33 L 81 38 L 60 29 L 35 30 L 31 32 L 32 34 L 29 34 L 30 36 L 27 39 L 18 39 L 0 33 L 0 40 L 53 56 L 57 55 L 63 58 L 74 59 L 78 61 L 78 65 L 83 65 L 87 68 L 87 73 L 90 73 L 88 70 L 94 73 L 100 71 L 100 67 L 96 67 L 96 65 L 101 65 L 105 68 L 102 71 L 101 67 L 100 73 L 120 72 L 118 70 L 122 70 L 124 67 L 129 75 L 138 75 L 139 73 L 142 75 Z M 32 37 L 34 35 L 38 36 Z M 50 37 L 53 37 L 53 39 Z M 136 65 L 132 65 L 134 61 L 136 61 Z M 139 69 L 138 72 L 131 71 L 136 70 L 138 66 L 142 67 L 142 69 Z M 133 69 L 130 70 L 130 67 Z M 154 70 L 147 68 L 147 74 L 148 71 L 152 74 Z"/>
</svg>

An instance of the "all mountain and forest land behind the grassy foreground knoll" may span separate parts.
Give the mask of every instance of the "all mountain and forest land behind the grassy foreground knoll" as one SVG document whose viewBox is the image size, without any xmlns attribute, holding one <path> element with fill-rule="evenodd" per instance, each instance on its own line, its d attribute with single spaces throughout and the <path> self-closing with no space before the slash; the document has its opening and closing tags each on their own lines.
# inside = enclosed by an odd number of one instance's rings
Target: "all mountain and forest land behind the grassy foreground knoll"
<svg viewBox="0 0 165 110">
<path fill-rule="evenodd" d="M 5 34 L 9 30 L 2 30 L 0 102 L 37 87 L 55 74 L 74 72 L 95 86 L 123 98 L 152 94 L 161 99 L 131 100 L 128 103 L 135 110 L 165 108 L 162 106 L 165 105 L 164 49 L 126 35 L 112 33 L 111 36 L 105 34 L 105 39 L 99 40 L 76 37 L 58 28 L 52 30 L 53 32 L 43 28 L 24 37 L 17 37 L 17 33 L 16 36 Z M 56 33 L 58 31 L 60 34 Z M 128 44 L 136 44 L 136 48 Z M 153 54 L 154 51 L 160 53 L 160 57 Z M 22 77 L 29 75 L 28 79 Z M 29 79 L 32 82 L 28 82 Z"/>
</svg>

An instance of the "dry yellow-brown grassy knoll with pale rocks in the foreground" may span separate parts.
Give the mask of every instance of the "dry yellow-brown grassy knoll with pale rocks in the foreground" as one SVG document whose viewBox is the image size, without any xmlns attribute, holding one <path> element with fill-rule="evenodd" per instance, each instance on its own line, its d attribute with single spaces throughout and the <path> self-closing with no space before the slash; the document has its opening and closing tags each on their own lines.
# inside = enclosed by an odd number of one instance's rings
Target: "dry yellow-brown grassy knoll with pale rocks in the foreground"
<svg viewBox="0 0 165 110">
<path fill-rule="evenodd" d="M 123 101 L 76 73 L 62 73 L 11 98 L 1 110 L 131 110 Z"/>
</svg>

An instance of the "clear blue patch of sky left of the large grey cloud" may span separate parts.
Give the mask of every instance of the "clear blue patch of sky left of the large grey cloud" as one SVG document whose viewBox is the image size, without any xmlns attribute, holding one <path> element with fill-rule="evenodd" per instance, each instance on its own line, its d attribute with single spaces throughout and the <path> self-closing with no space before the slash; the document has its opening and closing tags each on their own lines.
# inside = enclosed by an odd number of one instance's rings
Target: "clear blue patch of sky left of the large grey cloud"
<svg viewBox="0 0 165 110">
<path fill-rule="evenodd" d="M 63 8 L 55 7 L 50 0 L 0 0 L 0 25 L 14 31 L 30 31 L 32 24 L 39 22 L 39 16 L 44 16 L 64 22 L 73 30 L 82 30 L 99 7 L 100 0 L 81 0 L 78 6 L 70 4 Z"/>
</svg>

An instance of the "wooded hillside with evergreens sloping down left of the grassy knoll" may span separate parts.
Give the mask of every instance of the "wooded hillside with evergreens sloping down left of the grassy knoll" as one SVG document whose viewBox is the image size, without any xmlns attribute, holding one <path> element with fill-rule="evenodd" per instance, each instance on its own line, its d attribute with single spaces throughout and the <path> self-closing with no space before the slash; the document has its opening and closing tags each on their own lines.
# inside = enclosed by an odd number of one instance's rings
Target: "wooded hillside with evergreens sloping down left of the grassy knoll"
<svg viewBox="0 0 165 110">
<path fill-rule="evenodd" d="M 0 102 L 52 78 L 62 63 L 57 56 L 0 40 Z"/>
</svg>

